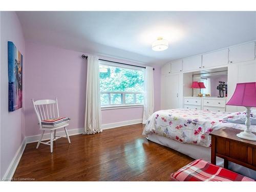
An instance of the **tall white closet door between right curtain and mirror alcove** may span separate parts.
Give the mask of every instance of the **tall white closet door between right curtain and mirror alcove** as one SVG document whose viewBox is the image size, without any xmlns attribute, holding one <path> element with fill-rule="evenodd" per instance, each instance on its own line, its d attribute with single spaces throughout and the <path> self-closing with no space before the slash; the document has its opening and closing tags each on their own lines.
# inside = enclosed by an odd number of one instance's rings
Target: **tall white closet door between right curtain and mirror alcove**
<svg viewBox="0 0 256 192">
<path fill-rule="evenodd" d="M 163 88 L 163 109 L 179 108 L 179 75 L 165 75 Z"/>
</svg>

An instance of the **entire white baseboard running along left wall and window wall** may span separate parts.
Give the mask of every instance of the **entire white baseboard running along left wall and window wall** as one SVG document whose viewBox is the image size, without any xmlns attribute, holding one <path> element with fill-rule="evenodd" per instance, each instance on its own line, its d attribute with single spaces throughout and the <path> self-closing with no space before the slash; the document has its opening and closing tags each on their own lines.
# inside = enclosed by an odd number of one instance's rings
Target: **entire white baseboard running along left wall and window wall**
<svg viewBox="0 0 256 192">
<path fill-rule="evenodd" d="M 102 130 L 106 129 L 112 129 L 115 127 L 119 126 L 125 126 L 125 125 L 132 125 L 132 124 L 137 124 L 137 123 L 142 123 L 142 119 L 134 119 L 134 120 L 129 120 L 129 121 L 121 121 L 121 122 L 116 122 L 116 123 L 109 123 L 109 124 L 102 124 Z M 73 129 L 73 130 L 68 130 L 69 135 L 78 135 L 83 133 L 83 128 L 80 129 Z M 65 131 L 57 132 L 58 136 L 66 136 Z M 10 181 L 13 177 L 13 174 L 15 173 L 15 170 L 17 168 L 17 165 L 19 163 L 20 158 L 22 158 L 23 152 L 25 150 L 26 144 L 27 143 L 33 143 L 37 142 L 40 139 L 41 135 L 34 135 L 34 136 L 27 136 L 24 138 L 22 144 L 19 146 L 15 156 L 12 159 L 12 162 L 10 163 L 6 174 L 4 175 L 4 178 L 2 180 L 5 181 Z M 50 133 L 44 134 L 44 137 L 42 140 L 47 140 L 50 139 Z"/>
</svg>

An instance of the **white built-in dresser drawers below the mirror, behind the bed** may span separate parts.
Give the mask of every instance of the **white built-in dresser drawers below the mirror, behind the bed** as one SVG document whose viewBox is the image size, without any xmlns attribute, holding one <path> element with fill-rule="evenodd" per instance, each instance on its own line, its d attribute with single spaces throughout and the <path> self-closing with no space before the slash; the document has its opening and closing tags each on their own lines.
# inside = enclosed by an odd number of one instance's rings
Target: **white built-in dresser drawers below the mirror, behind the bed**
<svg viewBox="0 0 256 192">
<path fill-rule="evenodd" d="M 183 108 L 224 112 L 226 97 L 183 97 Z"/>
</svg>

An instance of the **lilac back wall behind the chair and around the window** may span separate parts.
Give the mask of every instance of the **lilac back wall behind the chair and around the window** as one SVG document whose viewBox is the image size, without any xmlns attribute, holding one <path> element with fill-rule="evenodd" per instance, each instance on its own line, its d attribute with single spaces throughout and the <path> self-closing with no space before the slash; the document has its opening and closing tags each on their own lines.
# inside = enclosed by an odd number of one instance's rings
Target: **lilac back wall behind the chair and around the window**
<svg viewBox="0 0 256 192">
<path fill-rule="evenodd" d="M 61 116 L 71 118 L 69 129 L 84 126 L 87 62 L 81 52 L 26 43 L 26 136 L 40 134 L 31 99 L 57 97 Z M 117 61 L 117 59 L 115 59 Z M 120 61 L 120 60 L 119 60 Z M 160 68 L 154 72 L 155 109 L 160 109 Z M 102 111 L 102 124 L 142 118 L 143 108 Z"/>
</svg>

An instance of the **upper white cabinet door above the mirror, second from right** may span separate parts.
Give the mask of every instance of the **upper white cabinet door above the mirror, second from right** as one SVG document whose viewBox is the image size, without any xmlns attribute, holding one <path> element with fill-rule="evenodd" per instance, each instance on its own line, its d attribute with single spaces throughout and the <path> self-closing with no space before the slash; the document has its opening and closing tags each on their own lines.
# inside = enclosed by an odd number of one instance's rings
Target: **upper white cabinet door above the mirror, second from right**
<svg viewBox="0 0 256 192">
<path fill-rule="evenodd" d="M 203 54 L 202 68 L 210 68 L 228 64 L 228 49 Z"/>
</svg>

